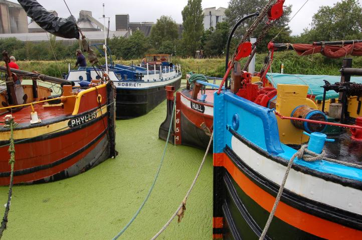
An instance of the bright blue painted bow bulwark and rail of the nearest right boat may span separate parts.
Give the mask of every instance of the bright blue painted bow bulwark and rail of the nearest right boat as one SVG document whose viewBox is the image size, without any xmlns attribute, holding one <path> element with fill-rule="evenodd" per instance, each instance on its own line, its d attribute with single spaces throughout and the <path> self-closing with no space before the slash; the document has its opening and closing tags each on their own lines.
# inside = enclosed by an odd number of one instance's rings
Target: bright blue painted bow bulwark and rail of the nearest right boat
<svg viewBox="0 0 362 240">
<path fill-rule="evenodd" d="M 239 115 L 239 128 L 233 128 L 233 116 Z M 235 118 L 235 117 L 234 117 Z M 237 131 L 250 142 L 265 151 L 289 160 L 295 149 L 279 140 L 275 114 L 268 108 L 241 98 L 229 90 L 214 93 L 214 152 L 223 152 L 226 145 L 231 145 L 232 134 L 227 126 Z M 235 124 L 234 124 L 235 126 Z M 299 164 L 316 171 L 362 181 L 362 169 L 353 168 L 325 160 L 307 162 L 295 159 Z"/>
</svg>

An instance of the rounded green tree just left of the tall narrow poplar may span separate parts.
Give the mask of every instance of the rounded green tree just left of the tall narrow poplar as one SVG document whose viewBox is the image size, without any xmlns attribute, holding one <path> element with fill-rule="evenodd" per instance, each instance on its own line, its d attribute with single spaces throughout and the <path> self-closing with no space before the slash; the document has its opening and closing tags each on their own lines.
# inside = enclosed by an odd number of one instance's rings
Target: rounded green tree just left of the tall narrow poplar
<svg viewBox="0 0 362 240">
<path fill-rule="evenodd" d="M 156 48 L 159 48 L 164 41 L 173 41 L 177 37 L 177 24 L 170 16 L 161 16 L 151 28 L 150 38 Z"/>
</svg>

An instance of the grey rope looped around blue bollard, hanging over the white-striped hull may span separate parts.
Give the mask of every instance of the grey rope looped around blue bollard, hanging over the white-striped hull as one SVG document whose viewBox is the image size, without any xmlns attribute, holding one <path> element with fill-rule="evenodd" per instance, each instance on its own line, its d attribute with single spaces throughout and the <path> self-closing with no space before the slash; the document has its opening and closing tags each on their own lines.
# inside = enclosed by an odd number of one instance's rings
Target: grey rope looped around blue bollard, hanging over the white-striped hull
<svg viewBox="0 0 362 240">
<path fill-rule="evenodd" d="M 287 169 L 285 171 L 285 174 L 284 174 L 284 177 L 283 177 L 283 180 L 282 180 L 282 183 L 280 184 L 280 188 L 279 188 L 279 191 L 278 191 L 278 194 L 275 198 L 275 202 L 274 202 L 274 205 L 273 205 L 273 208 L 272 210 L 270 211 L 270 214 L 269 214 L 269 217 L 268 217 L 268 220 L 265 224 L 265 227 L 263 229 L 263 232 L 261 233 L 260 237 L 259 237 L 259 240 L 264 240 L 264 237 L 268 231 L 268 228 L 270 226 L 270 223 L 273 219 L 273 216 L 275 214 L 275 211 L 277 209 L 277 206 L 279 204 L 279 201 L 280 201 L 280 197 L 283 193 L 283 190 L 284 190 L 284 185 L 285 185 L 285 182 L 287 180 L 287 177 L 288 177 L 288 174 L 289 174 L 289 171 L 290 171 L 290 168 L 292 167 L 293 165 L 293 162 L 294 162 L 294 159 L 295 158 L 298 158 L 298 159 L 303 159 L 305 161 L 317 161 L 317 160 L 326 160 L 326 161 L 330 161 L 330 162 L 334 162 L 334 163 L 338 163 L 338 164 L 343 164 L 343 165 L 346 165 L 346 166 L 351 166 L 351 167 L 356 167 L 356 168 L 359 168 L 359 169 L 362 169 L 362 166 L 361 165 L 358 165 L 358 164 L 355 164 L 355 163 L 351 163 L 351 162 L 344 162 L 344 161 L 339 161 L 339 160 L 336 160 L 336 159 L 332 159 L 332 158 L 327 158 L 325 157 L 325 150 L 323 149 L 322 152 L 320 154 L 317 154 L 313 151 L 310 151 L 307 149 L 308 145 L 307 144 L 304 144 L 300 147 L 300 149 L 295 152 L 292 157 L 290 158 L 289 162 L 288 162 L 288 165 L 287 165 Z"/>
</svg>

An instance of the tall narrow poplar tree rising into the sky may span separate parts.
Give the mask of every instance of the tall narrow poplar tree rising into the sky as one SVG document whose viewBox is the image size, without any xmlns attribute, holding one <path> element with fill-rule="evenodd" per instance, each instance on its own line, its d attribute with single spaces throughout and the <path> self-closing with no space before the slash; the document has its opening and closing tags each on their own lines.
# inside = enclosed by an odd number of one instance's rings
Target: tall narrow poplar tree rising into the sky
<svg viewBox="0 0 362 240">
<path fill-rule="evenodd" d="M 182 10 L 184 31 L 183 41 L 188 55 L 195 56 L 200 48 L 200 38 L 204 31 L 204 13 L 201 0 L 188 0 L 188 4 Z"/>
</svg>

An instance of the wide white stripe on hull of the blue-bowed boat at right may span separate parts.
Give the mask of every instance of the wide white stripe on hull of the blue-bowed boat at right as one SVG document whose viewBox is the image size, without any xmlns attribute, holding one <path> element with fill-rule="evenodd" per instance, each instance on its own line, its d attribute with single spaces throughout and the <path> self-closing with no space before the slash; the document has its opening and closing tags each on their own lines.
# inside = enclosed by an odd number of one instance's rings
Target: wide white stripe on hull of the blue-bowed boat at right
<svg viewBox="0 0 362 240">
<path fill-rule="evenodd" d="M 280 185 L 286 166 L 260 155 L 232 136 L 233 151 L 254 171 Z M 362 214 L 362 191 L 290 169 L 285 188 L 295 194 L 343 210 Z"/>
</svg>

